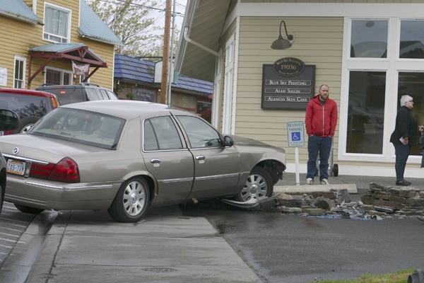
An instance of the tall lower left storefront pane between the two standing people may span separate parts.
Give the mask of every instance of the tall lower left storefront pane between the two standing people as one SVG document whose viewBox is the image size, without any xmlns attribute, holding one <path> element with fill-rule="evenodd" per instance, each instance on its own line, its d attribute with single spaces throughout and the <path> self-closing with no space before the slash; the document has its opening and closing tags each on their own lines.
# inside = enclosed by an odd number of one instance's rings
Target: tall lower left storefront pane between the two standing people
<svg viewBox="0 0 424 283">
<path fill-rule="evenodd" d="M 386 72 L 351 71 L 346 152 L 382 154 Z"/>
</svg>

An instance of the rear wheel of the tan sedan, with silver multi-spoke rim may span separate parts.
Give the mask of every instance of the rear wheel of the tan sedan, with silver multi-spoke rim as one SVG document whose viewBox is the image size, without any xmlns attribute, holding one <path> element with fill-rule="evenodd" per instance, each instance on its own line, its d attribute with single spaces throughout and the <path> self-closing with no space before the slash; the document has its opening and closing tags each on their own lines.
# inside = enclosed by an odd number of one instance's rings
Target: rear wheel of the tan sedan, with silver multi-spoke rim
<svg viewBox="0 0 424 283">
<path fill-rule="evenodd" d="M 126 180 L 110 204 L 110 217 L 114 221 L 138 222 L 146 214 L 149 205 L 149 187 L 144 178 L 136 177 Z"/>
</svg>

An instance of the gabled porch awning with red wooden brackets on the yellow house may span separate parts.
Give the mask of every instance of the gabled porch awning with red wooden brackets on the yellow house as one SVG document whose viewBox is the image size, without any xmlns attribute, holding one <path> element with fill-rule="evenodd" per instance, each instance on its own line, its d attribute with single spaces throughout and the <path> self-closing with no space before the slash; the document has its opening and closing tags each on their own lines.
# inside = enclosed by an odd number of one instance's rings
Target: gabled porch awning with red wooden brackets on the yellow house
<svg viewBox="0 0 424 283">
<path fill-rule="evenodd" d="M 46 61 L 40 68 L 38 68 L 34 74 L 31 75 L 31 67 L 33 58 L 45 58 Z M 90 64 L 90 67 L 95 69 L 90 72 L 83 81 L 87 81 L 95 71 L 99 68 L 107 68 L 105 60 L 103 60 L 98 54 L 95 54 L 93 50 L 90 50 L 88 46 L 83 43 L 52 43 L 48 45 L 41 45 L 30 48 L 30 66 L 28 72 L 28 88 L 30 88 L 31 81 L 37 76 L 37 74 L 44 69 L 52 59 L 63 59 L 69 61 L 71 65 L 72 60 L 81 62 L 81 64 Z"/>
</svg>

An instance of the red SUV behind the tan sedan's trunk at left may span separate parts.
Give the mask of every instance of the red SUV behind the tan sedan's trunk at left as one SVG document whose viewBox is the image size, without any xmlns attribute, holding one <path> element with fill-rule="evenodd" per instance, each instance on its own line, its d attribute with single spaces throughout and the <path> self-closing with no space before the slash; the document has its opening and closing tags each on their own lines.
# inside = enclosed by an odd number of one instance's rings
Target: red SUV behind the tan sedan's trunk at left
<svg viewBox="0 0 424 283">
<path fill-rule="evenodd" d="M 15 130 L 1 131 L 0 136 L 26 132 L 40 117 L 59 106 L 52 93 L 23 88 L 0 88 L 0 108 L 16 112 L 19 126 Z"/>
</svg>

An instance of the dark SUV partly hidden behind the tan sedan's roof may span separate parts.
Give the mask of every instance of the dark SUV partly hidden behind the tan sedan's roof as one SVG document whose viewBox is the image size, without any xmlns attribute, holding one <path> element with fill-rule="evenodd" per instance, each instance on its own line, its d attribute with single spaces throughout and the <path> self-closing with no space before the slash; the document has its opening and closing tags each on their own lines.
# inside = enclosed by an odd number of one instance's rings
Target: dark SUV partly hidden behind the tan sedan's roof
<svg viewBox="0 0 424 283">
<path fill-rule="evenodd" d="M 59 99 L 60 105 L 90 100 L 117 100 L 117 96 L 107 88 L 93 83 L 75 85 L 42 85 L 35 88 L 37 91 L 53 93 Z"/>
</svg>

